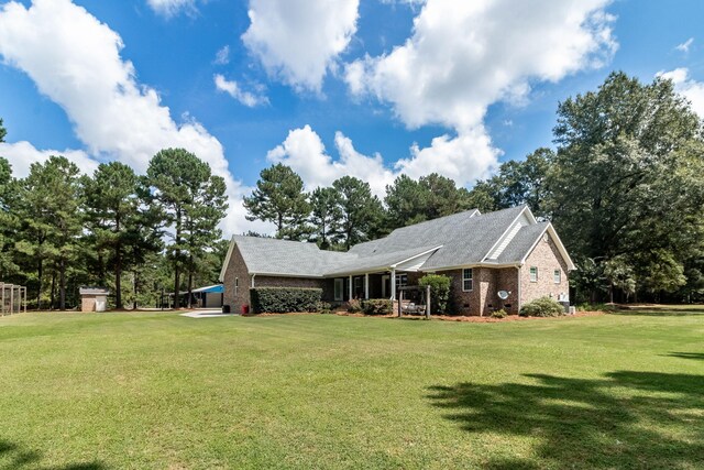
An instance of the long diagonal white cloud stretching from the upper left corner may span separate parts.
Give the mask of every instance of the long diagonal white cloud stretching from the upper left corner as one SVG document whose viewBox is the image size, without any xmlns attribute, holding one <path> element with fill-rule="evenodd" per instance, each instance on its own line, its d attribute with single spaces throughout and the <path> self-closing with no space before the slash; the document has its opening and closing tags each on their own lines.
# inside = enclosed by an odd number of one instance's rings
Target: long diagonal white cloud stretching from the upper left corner
<svg viewBox="0 0 704 470">
<path fill-rule="evenodd" d="M 176 123 L 156 91 L 136 81 L 122 47 L 114 31 L 69 0 L 34 0 L 29 9 L 12 1 L 0 9 L 0 55 L 66 111 L 89 155 L 144 172 L 161 149 L 187 149 L 226 179 L 226 232 L 250 228 L 241 203 L 249 188 L 230 174 L 220 142 L 187 116 Z"/>
</svg>

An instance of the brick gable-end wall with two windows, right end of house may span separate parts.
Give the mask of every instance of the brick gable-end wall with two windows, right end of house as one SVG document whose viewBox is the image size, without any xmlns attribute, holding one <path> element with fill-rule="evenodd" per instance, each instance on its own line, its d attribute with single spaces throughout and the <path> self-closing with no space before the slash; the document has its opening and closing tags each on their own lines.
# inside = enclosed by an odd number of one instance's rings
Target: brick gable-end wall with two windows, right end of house
<svg viewBox="0 0 704 470">
<path fill-rule="evenodd" d="M 538 281 L 530 281 L 530 267 L 538 267 Z M 560 270 L 560 283 L 553 281 L 553 271 Z M 520 269 L 520 303 L 549 296 L 556 300 L 561 293 L 569 295 L 568 265 L 551 237 L 541 238 Z"/>
</svg>

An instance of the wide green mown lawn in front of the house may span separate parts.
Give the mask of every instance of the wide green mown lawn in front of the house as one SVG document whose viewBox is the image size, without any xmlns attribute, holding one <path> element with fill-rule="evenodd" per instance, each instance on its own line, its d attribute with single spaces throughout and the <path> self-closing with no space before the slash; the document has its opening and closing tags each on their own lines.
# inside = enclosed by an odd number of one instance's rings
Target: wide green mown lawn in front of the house
<svg viewBox="0 0 704 470">
<path fill-rule="evenodd" d="M 702 468 L 703 337 L 635 313 L 4 317 L 0 469 Z"/>
</svg>

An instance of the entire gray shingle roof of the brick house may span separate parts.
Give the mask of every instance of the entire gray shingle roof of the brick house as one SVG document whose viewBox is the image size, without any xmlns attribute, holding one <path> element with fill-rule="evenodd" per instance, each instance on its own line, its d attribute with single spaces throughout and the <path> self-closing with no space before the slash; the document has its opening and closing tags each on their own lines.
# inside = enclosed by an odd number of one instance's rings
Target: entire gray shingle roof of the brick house
<svg viewBox="0 0 704 470">
<path fill-rule="evenodd" d="M 479 214 L 460 212 L 394 230 L 389 236 L 360 243 L 346 253 L 319 250 L 315 243 L 234 236 L 251 273 L 306 277 L 345 275 L 377 270 L 435 248 L 424 271 L 479 264 L 512 227 L 526 206 Z M 518 263 L 542 234 L 547 222 L 521 228 L 504 249 L 498 264 Z"/>
</svg>

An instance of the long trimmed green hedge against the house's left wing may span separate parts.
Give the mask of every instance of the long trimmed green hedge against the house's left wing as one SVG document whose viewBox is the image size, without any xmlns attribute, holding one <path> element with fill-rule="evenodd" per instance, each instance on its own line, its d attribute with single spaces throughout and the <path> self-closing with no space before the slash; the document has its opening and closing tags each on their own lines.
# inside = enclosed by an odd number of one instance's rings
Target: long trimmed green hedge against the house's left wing
<svg viewBox="0 0 704 470">
<path fill-rule="evenodd" d="M 250 289 L 252 313 L 286 314 L 289 311 L 318 311 L 321 288 L 254 287 Z"/>
</svg>

